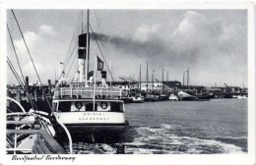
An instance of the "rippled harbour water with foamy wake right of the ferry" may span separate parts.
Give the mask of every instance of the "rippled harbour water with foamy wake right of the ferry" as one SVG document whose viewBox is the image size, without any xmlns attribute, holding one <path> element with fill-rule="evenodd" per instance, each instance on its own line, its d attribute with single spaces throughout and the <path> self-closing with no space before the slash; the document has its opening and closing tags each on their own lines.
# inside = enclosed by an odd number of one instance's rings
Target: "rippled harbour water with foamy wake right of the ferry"
<svg viewBox="0 0 256 165">
<path fill-rule="evenodd" d="M 127 154 L 214 154 L 247 152 L 247 99 L 160 101 L 126 104 L 130 126 L 115 141 L 96 143 L 106 153 L 116 143 Z M 75 153 L 92 153 L 88 142 Z"/>
</svg>

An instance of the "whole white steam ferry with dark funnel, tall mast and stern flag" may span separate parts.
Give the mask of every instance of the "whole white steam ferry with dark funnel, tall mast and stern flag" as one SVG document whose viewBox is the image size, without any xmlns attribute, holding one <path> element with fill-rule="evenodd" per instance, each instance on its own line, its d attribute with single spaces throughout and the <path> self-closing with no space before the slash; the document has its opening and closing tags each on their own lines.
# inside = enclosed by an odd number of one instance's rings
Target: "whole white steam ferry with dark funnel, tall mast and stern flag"
<svg viewBox="0 0 256 165">
<path fill-rule="evenodd" d="M 78 60 L 84 60 L 83 77 L 78 83 L 67 83 L 62 79 L 56 84 L 53 96 L 53 115 L 63 123 L 71 134 L 83 132 L 84 135 L 116 136 L 128 125 L 125 120 L 124 102 L 121 100 L 122 90 L 108 86 L 106 72 L 103 71 L 104 62 L 96 56 L 94 78 L 88 78 L 89 50 L 89 10 L 87 33 L 79 35 Z M 85 56 L 86 55 L 86 56 Z M 101 72 L 100 86 L 96 85 L 96 72 Z M 81 74 L 82 75 L 82 74 Z M 82 78 L 83 78 L 82 77 Z M 61 84 L 65 84 L 62 85 Z M 114 133 L 114 134 L 110 134 Z"/>
</svg>

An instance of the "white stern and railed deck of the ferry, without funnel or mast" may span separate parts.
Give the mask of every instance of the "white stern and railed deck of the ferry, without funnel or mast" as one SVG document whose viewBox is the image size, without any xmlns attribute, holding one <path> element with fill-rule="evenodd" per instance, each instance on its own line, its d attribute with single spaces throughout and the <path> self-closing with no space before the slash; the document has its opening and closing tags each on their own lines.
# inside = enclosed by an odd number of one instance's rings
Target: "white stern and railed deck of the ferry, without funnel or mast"
<svg viewBox="0 0 256 165">
<path fill-rule="evenodd" d="M 94 100 L 93 86 L 71 83 L 70 86 L 55 88 L 53 115 L 71 133 L 121 132 L 128 125 L 125 120 L 124 102 L 120 99 L 122 90 L 96 87 L 95 92 Z"/>
</svg>

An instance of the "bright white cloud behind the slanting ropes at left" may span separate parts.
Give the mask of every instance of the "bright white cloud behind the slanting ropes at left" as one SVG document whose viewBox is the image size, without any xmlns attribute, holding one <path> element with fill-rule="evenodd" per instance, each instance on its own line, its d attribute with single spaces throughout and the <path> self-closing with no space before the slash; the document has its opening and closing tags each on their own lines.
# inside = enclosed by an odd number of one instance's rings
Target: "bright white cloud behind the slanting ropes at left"
<svg viewBox="0 0 256 165">
<path fill-rule="evenodd" d="M 55 34 L 57 34 L 57 32 L 53 30 L 53 27 L 45 25 L 38 27 L 38 30 L 36 32 L 24 32 L 24 37 L 31 52 L 32 60 L 35 65 L 36 71 L 38 72 L 39 76 L 43 78 L 45 78 L 45 76 L 49 73 L 52 73 L 52 71 L 54 73 L 55 70 L 55 64 L 53 63 L 54 61 L 51 59 L 55 58 L 52 55 L 54 55 L 56 51 L 55 47 L 49 46 L 51 45 L 51 40 L 53 40 L 53 36 Z M 22 65 L 24 75 L 29 76 L 32 83 L 36 82 L 37 77 L 33 69 L 32 60 L 29 56 L 24 40 L 22 38 L 15 39 L 14 45 L 18 54 L 20 64 Z M 18 69 L 17 60 L 16 58 L 14 58 L 14 55 L 11 54 L 11 51 L 8 52 L 10 53 L 9 57 L 12 59 L 12 63 L 14 64 L 14 66 Z M 45 80 L 43 81 L 45 82 Z"/>
</svg>

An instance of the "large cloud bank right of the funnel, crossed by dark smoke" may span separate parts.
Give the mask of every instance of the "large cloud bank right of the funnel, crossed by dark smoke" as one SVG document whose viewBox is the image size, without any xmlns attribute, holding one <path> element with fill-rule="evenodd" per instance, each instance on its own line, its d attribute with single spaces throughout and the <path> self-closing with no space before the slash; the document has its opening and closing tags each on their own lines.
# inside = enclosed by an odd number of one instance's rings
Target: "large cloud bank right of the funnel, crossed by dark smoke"
<svg viewBox="0 0 256 165">
<path fill-rule="evenodd" d="M 165 32 L 164 35 L 162 32 Z M 226 75 L 232 77 L 228 80 L 237 79 L 235 73 L 241 78 L 246 77 L 245 26 L 236 23 L 226 25 L 223 18 L 209 19 L 200 12 L 187 11 L 173 30 L 163 30 L 161 25 L 152 24 L 137 27 L 133 33 L 127 37 L 102 33 L 93 36 L 94 39 L 108 41 L 116 49 L 115 57 L 120 58 L 121 54 L 122 61 L 127 62 L 119 62 L 119 67 L 129 68 L 127 71 L 122 69 L 120 75 L 138 73 L 138 67 L 131 67 L 130 64 L 139 66 L 149 61 L 151 68 L 173 71 L 174 78 L 182 78 L 183 71 L 190 67 L 191 82 L 195 84 L 201 84 L 210 73 L 219 74 L 204 84 L 224 81 Z M 128 63 L 131 58 L 136 61 Z M 244 66 L 245 70 L 237 70 L 234 66 Z"/>
</svg>

